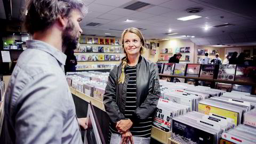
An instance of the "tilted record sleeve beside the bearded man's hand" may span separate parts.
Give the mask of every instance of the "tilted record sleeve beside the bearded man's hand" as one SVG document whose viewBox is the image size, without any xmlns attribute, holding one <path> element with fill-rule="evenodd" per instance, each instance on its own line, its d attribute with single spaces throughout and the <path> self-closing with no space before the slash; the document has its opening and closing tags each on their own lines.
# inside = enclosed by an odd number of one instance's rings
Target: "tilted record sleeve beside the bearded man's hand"
<svg viewBox="0 0 256 144">
<path fill-rule="evenodd" d="M 84 144 L 97 143 L 105 144 L 105 140 L 98 122 L 92 103 L 88 104 L 86 125 L 88 128 L 84 133 Z"/>
</svg>

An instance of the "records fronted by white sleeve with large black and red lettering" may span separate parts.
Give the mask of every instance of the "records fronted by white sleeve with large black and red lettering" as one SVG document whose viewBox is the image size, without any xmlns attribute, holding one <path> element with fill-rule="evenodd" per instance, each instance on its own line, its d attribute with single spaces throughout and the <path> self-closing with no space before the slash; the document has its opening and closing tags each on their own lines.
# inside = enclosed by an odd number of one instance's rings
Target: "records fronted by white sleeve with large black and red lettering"
<svg viewBox="0 0 256 144">
<path fill-rule="evenodd" d="M 153 125 L 159 129 L 169 132 L 171 131 L 171 122 L 174 116 L 188 113 L 188 106 L 180 105 L 169 100 L 159 99 Z"/>
</svg>

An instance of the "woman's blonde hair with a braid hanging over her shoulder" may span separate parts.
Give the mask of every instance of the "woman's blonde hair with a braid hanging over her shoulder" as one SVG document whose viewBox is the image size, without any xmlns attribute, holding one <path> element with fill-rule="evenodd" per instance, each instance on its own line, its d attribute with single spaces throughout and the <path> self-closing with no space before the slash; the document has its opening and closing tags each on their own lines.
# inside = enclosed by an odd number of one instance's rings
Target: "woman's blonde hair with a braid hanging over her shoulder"
<svg viewBox="0 0 256 144">
<path fill-rule="evenodd" d="M 122 33 L 122 38 L 121 38 L 121 41 L 122 41 L 122 47 L 123 47 L 123 49 L 124 49 L 124 35 L 126 34 L 126 33 L 133 33 L 133 34 L 136 34 L 139 38 L 140 38 L 140 42 L 141 42 L 141 47 L 140 47 L 140 54 L 143 54 L 144 52 L 145 52 L 145 40 L 144 40 L 144 37 L 143 37 L 143 35 L 142 35 L 142 33 L 141 33 L 141 31 L 138 29 L 138 28 L 127 28 L 127 29 L 125 29 L 124 31 L 123 31 L 123 33 Z M 119 79 L 118 79 L 118 84 L 119 83 L 124 83 L 124 79 L 125 79 L 125 73 L 124 73 L 124 68 L 126 67 L 126 65 L 127 65 L 127 53 L 126 53 L 126 51 L 125 51 L 125 49 L 124 49 L 124 53 L 125 53 L 125 55 L 126 55 L 126 57 L 124 58 L 124 59 L 122 59 L 122 65 L 121 65 L 121 67 L 122 67 L 122 73 L 121 73 L 121 76 L 119 77 Z"/>
</svg>

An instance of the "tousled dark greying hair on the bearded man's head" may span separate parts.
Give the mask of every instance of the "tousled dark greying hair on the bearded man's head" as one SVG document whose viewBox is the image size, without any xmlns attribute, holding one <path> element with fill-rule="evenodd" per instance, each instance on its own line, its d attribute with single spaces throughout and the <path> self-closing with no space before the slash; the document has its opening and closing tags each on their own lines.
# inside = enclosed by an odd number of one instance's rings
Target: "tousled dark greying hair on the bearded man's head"
<svg viewBox="0 0 256 144">
<path fill-rule="evenodd" d="M 87 13 L 83 0 L 28 0 L 26 5 L 25 27 L 30 34 L 49 28 L 59 17 L 68 17 L 71 10 Z"/>
</svg>

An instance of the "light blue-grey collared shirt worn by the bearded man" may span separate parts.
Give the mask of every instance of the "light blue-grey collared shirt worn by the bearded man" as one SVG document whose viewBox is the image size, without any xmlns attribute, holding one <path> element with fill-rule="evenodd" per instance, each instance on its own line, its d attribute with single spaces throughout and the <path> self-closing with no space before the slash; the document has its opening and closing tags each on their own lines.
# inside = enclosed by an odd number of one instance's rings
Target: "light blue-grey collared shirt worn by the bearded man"
<svg viewBox="0 0 256 144">
<path fill-rule="evenodd" d="M 5 94 L 7 143 L 83 143 L 64 73 L 66 55 L 27 41 Z"/>
</svg>

